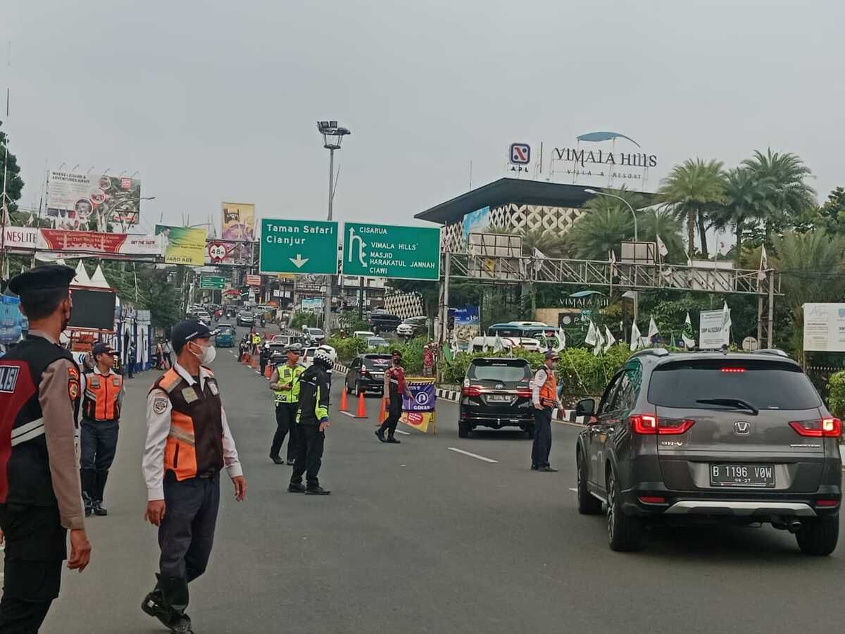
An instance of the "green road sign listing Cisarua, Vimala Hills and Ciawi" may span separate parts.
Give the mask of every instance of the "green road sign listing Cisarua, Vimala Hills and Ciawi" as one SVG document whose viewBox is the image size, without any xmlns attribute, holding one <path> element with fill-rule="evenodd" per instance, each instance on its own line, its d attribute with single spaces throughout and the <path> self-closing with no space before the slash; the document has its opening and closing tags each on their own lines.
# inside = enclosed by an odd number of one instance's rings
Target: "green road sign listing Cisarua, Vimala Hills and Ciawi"
<svg viewBox="0 0 845 634">
<path fill-rule="evenodd" d="M 436 280 L 440 275 L 440 230 L 346 222 L 343 274 Z"/>
</svg>

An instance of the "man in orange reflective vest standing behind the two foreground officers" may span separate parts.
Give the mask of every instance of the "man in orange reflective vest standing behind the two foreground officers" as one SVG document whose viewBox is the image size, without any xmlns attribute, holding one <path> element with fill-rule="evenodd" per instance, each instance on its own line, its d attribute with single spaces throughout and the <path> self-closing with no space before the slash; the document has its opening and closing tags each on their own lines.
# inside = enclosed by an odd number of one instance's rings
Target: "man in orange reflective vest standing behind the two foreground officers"
<svg viewBox="0 0 845 634">
<path fill-rule="evenodd" d="M 81 456 L 85 516 L 108 515 L 102 506 L 108 470 L 117 451 L 117 422 L 123 405 L 123 376 L 112 369 L 115 352 L 105 343 L 91 351 L 94 369 L 82 374 Z"/>
</svg>

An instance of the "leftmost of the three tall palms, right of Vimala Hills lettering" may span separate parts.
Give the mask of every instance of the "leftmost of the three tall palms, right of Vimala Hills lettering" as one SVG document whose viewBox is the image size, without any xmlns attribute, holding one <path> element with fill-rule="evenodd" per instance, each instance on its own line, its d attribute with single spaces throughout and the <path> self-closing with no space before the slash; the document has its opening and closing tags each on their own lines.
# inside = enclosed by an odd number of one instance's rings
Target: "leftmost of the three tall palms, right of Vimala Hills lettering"
<svg viewBox="0 0 845 634">
<path fill-rule="evenodd" d="M 657 190 L 658 199 L 666 203 L 679 218 L 687 221 L 687 249 L 690 258 L 695 253 L 695 225 L 701 238 L 701 254 L 707 254 L 706 211 L 722 203 L 724 177 L 722 161 L 687 159 L 673 167 Z"/>
</svg>

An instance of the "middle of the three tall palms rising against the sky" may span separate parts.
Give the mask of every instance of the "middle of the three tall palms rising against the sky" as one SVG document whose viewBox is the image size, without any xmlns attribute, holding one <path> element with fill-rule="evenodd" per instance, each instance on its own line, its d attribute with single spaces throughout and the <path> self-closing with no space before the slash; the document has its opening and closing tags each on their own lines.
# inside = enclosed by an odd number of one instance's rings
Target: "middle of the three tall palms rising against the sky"
<svg viewBox="0 0 845 634">
<path fill-rule="evenodd" d="M 710 217 L 714 227 L 733 227 L 736 234 L 733 258 L 739 260 L 744 229 L 769 216 L 774 186 L 770 178 L 759 178 L 749 167 L 728 172 L 724 186 L 725 199 L 711 210 Z"/>
</svg>

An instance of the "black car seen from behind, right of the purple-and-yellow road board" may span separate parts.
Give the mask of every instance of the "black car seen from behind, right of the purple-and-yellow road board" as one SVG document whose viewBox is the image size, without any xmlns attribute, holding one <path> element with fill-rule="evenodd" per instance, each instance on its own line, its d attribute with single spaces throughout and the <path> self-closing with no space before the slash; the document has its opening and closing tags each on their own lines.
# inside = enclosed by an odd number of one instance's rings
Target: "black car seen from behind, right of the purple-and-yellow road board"
<svg viewBox="0 0 845 634">
<path fill-rule="evenodd" d="M 518 427 L 534 437 L 532 370 L 524 358 L 474 358 L 466 369 L 458 406 L 458 436 L 477 427 Z"/>
</svg>

